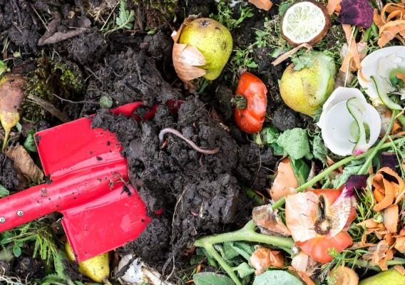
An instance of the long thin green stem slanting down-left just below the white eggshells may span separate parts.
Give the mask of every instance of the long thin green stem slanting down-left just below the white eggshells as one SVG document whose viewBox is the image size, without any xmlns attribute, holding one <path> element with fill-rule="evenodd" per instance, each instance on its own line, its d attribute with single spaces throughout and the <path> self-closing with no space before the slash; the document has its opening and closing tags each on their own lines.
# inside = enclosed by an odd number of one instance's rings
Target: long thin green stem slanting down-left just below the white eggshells
<svg viewBox="0 0 405 285">
<path fill-rule="evenodd" d="M 383 141 L 383 140 L 381 140 L 381 141 Z M 385 142 L 381 146 L 377 145 L 376 147 L 372 147 L 369 150 L 367 150 L 366 152 L 362 153 L 361 155 L 348 156 L 348 157 L 344 158 L 343 160 L 336 162 L 334 165 L 329 166 L 327 169 L 320 172 L 314 178 L 312 178 L 308 182 L 305 182 L 303 185 L 299 186 L 296 190 L 297 190 L 297 192 L 302 192 L 302 191 L 306 190 L 307 188 L 312 187 L 319 180 L 322 180 L 322 179 L 324 179 L 324 177 L 327 177 L 327 175 L 329 175 L 329 173 L 331 173 L 334 170 L 337 170 L 339 167 L 351 162 L 352 160 L 359 160 L 363 157 L 367 157 L 368 155 L 371 155 L 371 153 L 374 152 L 375 150 L 381 150 L 383 148 L 391 147 L 392 145 L 399 145 L 400 143 L 404 143 L 404 142 L 405 142 L 405 138 L 399 138 L 392 142 Z M 285 203 L 285 197 L 282 197 L 280 200 L 278 200 L 277 202 L 275 202 L 275 204 L 272 205 L 272 208 L 278 209 L 278 208 L 282 207 L 282 205 L 284 205 L 284 203 Z"/>
</svg>

